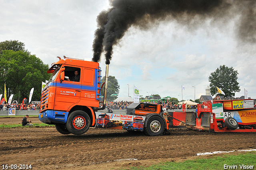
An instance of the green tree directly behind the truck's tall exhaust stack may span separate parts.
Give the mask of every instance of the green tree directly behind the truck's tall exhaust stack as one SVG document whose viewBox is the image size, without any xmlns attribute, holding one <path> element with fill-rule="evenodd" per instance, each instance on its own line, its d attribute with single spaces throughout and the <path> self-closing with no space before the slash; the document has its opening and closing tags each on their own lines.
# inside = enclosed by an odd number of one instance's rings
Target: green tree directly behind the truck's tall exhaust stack
<svg viewBox="0 0 256 170">
<path fill-rule="evenodd" d="M 101 80 L 102 83 L 105 82 L 105 76 L 102 77 L 102 80 Z M 116 97 L 113 97 L 113 96 L 110 96 L 111 94 L 118 94 L 119 93 L 119 89 L 120 89 L 120 86 L 118 84 L 118 81 L 116 80 L 116 77 L 115 76 L 108 76 L 108 87 L 107 87 L 107 98 L 109 100 L 114 100 L 114 98 L 116 99 Z M 102 96 L 104 96 L 104 89 L 105 89 L 105 86 L 103 86 L 100 94 Z"/>
</svg>

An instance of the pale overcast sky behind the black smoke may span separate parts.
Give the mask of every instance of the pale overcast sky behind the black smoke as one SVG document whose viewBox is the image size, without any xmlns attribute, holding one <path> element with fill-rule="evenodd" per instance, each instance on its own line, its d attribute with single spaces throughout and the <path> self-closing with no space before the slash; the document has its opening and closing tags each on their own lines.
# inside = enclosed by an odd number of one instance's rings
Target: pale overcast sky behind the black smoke
<svg viewBox="0 0 256 170">
<path fill-rule="evenodd" d="M 0 42 L 24 42 L 49 66 L 57 56 L 91 61 L 96 18 L 108 8 L 108 0 L 0 0 Z M 114 46 L 109 66 L 109 75 L 119 82 L 119 96 L 128 97 L 129 88 L 133 98 L 135 85 L 143 97 L 194 100 L 194 90 L 196 99 L 205 95 L 210 73 L 226 65 L 239 73 L 241 91 L 235 97 L 244 96 L 245 88 L 256 98 L 256 44 L 238 40 L 237 18 L 206 20 L 196 28 L 176 21 L 148 30 L 131 27 Z M 104 56 L 100 67 L 104 75 Z"/>
</svg>

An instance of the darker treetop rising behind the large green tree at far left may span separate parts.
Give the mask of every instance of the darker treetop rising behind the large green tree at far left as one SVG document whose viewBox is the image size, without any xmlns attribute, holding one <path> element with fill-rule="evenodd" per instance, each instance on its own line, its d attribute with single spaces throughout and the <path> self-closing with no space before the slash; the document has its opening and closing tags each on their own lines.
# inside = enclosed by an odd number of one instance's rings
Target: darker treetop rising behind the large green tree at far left
<svg viewBox="0 0 256 170">
<path fill-rule="evenodd" d="M 12 51 L 24 51 L 28 54 L 30 52 L 25 50 L 25 44 L 23 42 L 19 42 L 18 40 L 10 40 L 0 42 L 0 54 L 3 54 L 4 50 L 12 50 Z"/>
</svg>

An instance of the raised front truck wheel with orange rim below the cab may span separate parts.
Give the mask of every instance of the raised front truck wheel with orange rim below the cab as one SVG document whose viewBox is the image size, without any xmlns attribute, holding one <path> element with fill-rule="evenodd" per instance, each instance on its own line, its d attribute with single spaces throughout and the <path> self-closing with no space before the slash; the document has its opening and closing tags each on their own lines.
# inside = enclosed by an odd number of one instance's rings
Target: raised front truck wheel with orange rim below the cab
<svg viewBox="0 0 256 170">
<path fill-rule="evenodd" d="M 66 128 L 72 134 L 80 135 L 90 128 L 90 117 L 82 110 L 71 112 L 66 122 Z"/>
</svg>

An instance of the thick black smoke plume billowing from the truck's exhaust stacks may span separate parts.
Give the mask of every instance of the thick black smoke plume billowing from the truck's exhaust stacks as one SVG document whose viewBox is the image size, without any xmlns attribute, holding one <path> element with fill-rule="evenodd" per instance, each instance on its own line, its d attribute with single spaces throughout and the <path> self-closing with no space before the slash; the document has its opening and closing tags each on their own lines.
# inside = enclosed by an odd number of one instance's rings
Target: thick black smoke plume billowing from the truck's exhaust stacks
<svg viewBox="0 0 256 170">
<path fill-rule="evenodd" d="M 112 8 L 97 17 L 94 62 L 100 61 L 104 51 L 106 64 L 110 64 L 113 46 L 131 26 L 146 30 L 161 21 L 176 20 L 180 24 L 196 26 L 206 19 L 228 20 L 238 16 L 238 38 L 256 42 L 256 0 L 110 0 L 110 5 Z"/>
</svg>

